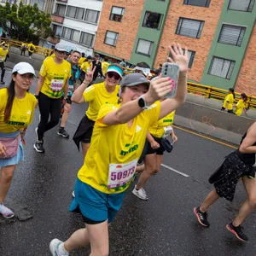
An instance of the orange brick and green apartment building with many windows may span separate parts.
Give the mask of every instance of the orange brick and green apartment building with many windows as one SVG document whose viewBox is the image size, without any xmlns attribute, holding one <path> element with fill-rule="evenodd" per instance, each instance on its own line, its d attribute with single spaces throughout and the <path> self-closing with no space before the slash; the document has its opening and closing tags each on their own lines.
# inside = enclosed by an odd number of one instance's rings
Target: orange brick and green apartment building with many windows
<svg viewBox="0 0 256 256">
<path fill-rule="evenodd" d="M 95 50 L 158 67 L 166 60 L 168 44 L 178 42 L 189 49 L 191 81 L 256 95 L 254 2 L 108 0 L 103 3 Z"/>
</svg>

